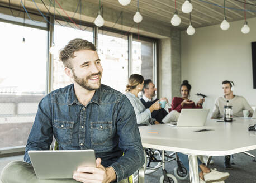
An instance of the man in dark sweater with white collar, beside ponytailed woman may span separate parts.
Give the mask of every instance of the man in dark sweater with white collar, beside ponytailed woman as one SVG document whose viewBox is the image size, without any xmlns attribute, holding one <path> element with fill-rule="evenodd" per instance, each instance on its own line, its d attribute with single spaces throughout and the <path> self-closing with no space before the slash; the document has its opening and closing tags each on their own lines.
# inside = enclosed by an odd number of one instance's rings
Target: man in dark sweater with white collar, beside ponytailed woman
<svg viewBox="0 0 256 183">
<path fill-rule="evenodd" d="M 157 100 L 157 97 L 155 97 L 155 91 L 157 91 L 157 88 L 155 88 L 155 85 L 151 81 L 151 79 L 144 80 L 143 85 L 143 97 L 140 99 L 140 101 L 143 103 L 143 105 L 148 109 L 152 104 L 154 104 Z M 168 102 L 167 98 L 161 98 L 160 100 L 165 100 Z M 154 110 L 151 113 L 151 117 L 156 119 L 157 121 L 162 121 L 162 119 L 168 114 L 168 112 L 164 108 L 160 108 L 159 110 Z"/>
</svg>

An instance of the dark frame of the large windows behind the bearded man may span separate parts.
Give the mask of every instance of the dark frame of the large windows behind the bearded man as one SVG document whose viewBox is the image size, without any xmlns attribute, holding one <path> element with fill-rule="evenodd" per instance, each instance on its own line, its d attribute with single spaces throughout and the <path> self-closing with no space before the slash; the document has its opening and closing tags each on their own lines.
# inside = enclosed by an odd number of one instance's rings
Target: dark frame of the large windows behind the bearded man
<svg viewBox="0 0 256 183">
<path fill-rule="evenodd" d="M 1 6 L 3 8 L 8 8 L 6 6 Z M 12 8 L 14 10 L 17 10 L 17 8 Z M 22 10 L 21 10 L 22 11 Z M 39 13 L 35 13 L 34 11 L 28 11 L 31 14 L 37 15 L 37 16 L 41 16 Z M 22 11 L 23 13 L 23 11 Z M 45 15 L 46 16 L 46 15 Z M 16 25 L 21 25 L 21 26 L 26 26 L 26 27 L 32 27 L 32 28 L 37 28 L 37 29 L 41 29 L 41 30 L 46 30 L 48 31 L 48 37 L 47 37 L 47 41 L 48 41 L 48 47 L 47 47 L 47 58 L 48 60 L 46 61 L 46 94 L 50 93 L 53 89 L 53 56 L 49 53 L 49 49 L 50 46 L 53 44 L 53 33 L 54 33 L 54 17 L 55 20 L 60 20 L 61 21 L 61 17 L 60 16 L 46 16 L 46 18 L 48 18 L 47 22 L 47 28 L 45 27 L 41 27 L 41 26 L 34 26 L 34 25 L 28 25 L 25 23 L 25 25 L 23 25 L 23 23 L 20 22 L 15 22 L 15 21 L 8 21 L 8 20 L 3 20 L 0 19 L 0 22 L 6 22 L 6 23 L 12 23 L 12 24 L 16 24 Z M 68 17 L 64 17 L 68 20 Z M 111 27 L 97 27 L 95 26 L 93 23 L 89 23 L 86 21 L 80 21 L 80 20 L 75 20 L 73 19 L 73 21 L 75 23 L 81 23 L 81 25 L 83 26 L 88 26 L 91 27 L 93 29 L 93 43 L 96 45 L 96 47 L 98 48 L 98 33 L 99 31 L 103 30 L 103 31 L 108 31 L 108 32 L 113 32 L 113 33 L 118 33 L 121 35 L 127 35 L 127 40 L 128 40 L 128 78 L 129 79 L 130 75 L 132 74 L 132 40 L 135 37 L 139 36 L 139 40 L 143 40 L 143 41 L 147 41 L 147 42 L 152 42 L 153 43 L 153 82 L 155 83 L 155 86 L 157 86 L 158 83 L 158 59 L 159 59 L 159 54 L 158 54 L 158 39 L 156 38 L 152 38 L 152 37 L 147 37 L 147 36 L 142 36 L 142 35 L 138 35 L 136 33 L 130 33 L 130 32 L 126 32 L 126 31 L 121 31 L 121 30 L 117 30 L 116 28 L 111 28 Z M 0 157 L 3 156 L 11 156 L 13 155 L 13 153 L 22 153 L 25 152 L 25 147 L 26 146 L 14 146 L 14 147 L 4 147 L 4 148 L 0 148 Z"/>
</svg>

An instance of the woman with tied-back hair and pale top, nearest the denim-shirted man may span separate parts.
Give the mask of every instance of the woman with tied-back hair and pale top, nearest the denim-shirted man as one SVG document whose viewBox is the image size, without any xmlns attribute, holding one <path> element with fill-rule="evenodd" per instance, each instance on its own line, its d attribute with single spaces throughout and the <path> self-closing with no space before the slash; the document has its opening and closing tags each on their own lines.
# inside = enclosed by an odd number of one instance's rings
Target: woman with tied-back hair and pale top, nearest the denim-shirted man
<svg viewBox="0 0 256 183">
<path fill-rule="evenodd" d="M 126 86 L 126 97 L 130 100 L 137 117 L 138 126 L 159 124 L 156 119 L 152 118 L 151 113 L 159 110 L 159 100 L 155 101 L 148 109 L 141 103 L 138 93 L 143 89 L 144 78 L 139 74 L 132 74 L 129 78 L 129 84 Z"/>
</svg>

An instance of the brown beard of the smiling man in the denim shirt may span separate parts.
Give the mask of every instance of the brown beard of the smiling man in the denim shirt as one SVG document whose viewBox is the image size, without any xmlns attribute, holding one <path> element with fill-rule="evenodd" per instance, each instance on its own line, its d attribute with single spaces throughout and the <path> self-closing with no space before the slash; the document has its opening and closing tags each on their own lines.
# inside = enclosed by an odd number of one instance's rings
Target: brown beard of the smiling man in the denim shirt
<svg viewBox="0 0 256 183">
<path fill-rule="evenodd" d="M 99 86 L 101 86 L 101 76 L 102 76 L 101 72 L 98 72 L 96 74 L 95 73 L 91 74 L 91 75 L 87 76 L 86 78 L 78 78 L 77 75 L 75 75 L 74 71 L 72 71 L 72 72 L 73 72 L 74 81 L 86 90 L 93 91 L 93 90 L 98 89 Z M 96 75 L 99 75 L 98 85 L 94 86 L 93 84 L 89 84 L 88 80 Z M 95 84 L 97 84 L 97 83 L 95 83 Z"/>
</svg>

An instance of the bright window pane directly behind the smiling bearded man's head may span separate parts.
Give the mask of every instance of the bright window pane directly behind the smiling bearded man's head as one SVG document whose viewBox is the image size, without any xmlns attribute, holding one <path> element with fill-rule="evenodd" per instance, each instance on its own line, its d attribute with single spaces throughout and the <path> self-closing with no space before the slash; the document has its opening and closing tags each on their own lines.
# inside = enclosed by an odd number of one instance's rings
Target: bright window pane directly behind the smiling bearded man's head
<svg viewBox="0 0 256 183">
<path fill-rule="evenodd" d="M 65 23 L 63 22 L 63 25 Z M 72 23 L 69 23 L 73 27 Z M 56 50 L 63 49 L 65 45 L 68 44 L 70 40 L 74 38 L 83 38 L 84 40 L 93 42 L 93 32 L 91 27 L 81 26 L 82 30 L 71 28 L 71 27 L 63 27 L 60 25 L 54 25 L 54 44 L 56 46 Z M 58 89 L 69 84 L 72 84 L 73 81 L 64 73 L 64 66 L 61 61 L 59 61 L 59 55 L 54 54 L 54 73 L 53 73 L 53 89 Z"/>
</svg>

